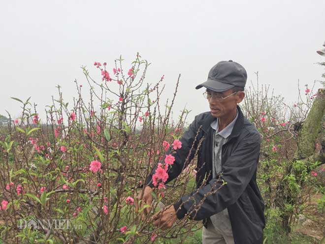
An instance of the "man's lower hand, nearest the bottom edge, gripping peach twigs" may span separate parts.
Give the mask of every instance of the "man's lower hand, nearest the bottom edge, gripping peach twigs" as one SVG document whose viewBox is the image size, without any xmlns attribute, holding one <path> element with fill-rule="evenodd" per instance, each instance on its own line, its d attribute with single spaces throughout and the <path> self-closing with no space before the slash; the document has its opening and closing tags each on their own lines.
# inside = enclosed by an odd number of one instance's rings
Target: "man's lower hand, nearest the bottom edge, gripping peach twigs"
<svg viewBox="0 0 325 244">
<path fill-rule="evenodd" d="M 176 211 L 173 205 L 168 206 L 166 209 L 162 209 L 151 217 L 154 221 L 153 224 L 162 228 L 162 230 L 169 229 L 173 226 L 177 220 Z"/>
</svg>

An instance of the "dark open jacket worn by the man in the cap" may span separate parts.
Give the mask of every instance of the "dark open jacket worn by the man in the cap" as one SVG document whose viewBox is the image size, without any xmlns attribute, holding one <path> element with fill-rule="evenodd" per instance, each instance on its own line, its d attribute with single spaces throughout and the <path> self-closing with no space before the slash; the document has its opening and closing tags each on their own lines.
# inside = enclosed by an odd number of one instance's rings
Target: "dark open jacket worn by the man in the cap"
<svg viewBox="0 0 325 244">
<path fill-rule="evenodd" d="M 194 158 L 198 142 L 203 139 L 196 168 L 198 190 L 183 196 L 174 204 L 177 217 L 180 219 L 188 215 L 191 219 L 203 220 L 203 223 L 206 223 L 211 215 L 227 208 L 235 244 L 262 244 L 265 227 L 264 202 L 256 183 L 260 134 L 255 126 L 244 118 L 239 106 L 237 109 L 237 121 L 222 148 L 221 176 L 212 178 L 212 143 L 215 130 L 210 125 L 215 118 L 210 112 L 204 112 L 195 116 L 195 120 L 180 139 L 182 148 L 175 152 L 172 149 L 167 151 L 166 154 L 172 153 L 175 157 L 175 162 L 168 169 L 166 183 L 181 173 L 186 167 L 187 158 L 187 162 Z M 149 176 L 147 184 L 153 186 L 151 179 L 152 175 Z M 222 181 L 227 184 L 220 188 Z"/>
</svg>

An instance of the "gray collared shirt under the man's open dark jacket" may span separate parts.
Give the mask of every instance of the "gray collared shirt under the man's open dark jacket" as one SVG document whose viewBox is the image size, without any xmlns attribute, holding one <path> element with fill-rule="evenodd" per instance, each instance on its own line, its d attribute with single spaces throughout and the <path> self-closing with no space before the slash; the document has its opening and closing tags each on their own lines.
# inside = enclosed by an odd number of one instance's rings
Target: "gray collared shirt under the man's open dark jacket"
<svg viewBox="0 0 325 244">
<path fill-rule="evenodd" d="M 221 165 L 222 146 L 227 142 L 228 137 L 232 132 L 232 129 L 236 123 L 237 118 L 238 118 L 238 110 L 237 110 L 236 117 L 220 132 L 219 132 L 218 118 L 211 123 L 212 129 L 215 130 L 213 135 L 213 155 L 212 155 L 213 158 L 212 176 L 214 178 L 218 177 L 222 171 L 222 165 Z M 232 235 L 232 229 L 231 229 L 227 208 L 221 212 L 218 212 L 210 216 L 210 219 L 217 230 L 227 235 Z"/>
</svg>

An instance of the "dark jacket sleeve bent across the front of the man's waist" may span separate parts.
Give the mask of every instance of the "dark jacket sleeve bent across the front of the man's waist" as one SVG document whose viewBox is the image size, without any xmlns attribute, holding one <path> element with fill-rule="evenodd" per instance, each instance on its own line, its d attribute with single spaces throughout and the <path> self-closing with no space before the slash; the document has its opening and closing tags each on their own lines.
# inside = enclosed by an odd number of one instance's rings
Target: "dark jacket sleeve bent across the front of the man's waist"
<svg viewBox="0 0 325 244">
<path fill-rule="evenodd" d="M 241 141 L 223 164 L 218 179 L 211 179 L 174 204 L 177 217 L 181 219 L 188 214 L 191 219 L 202 220 L 234 204 L 255 174 L 259 156 L 259 141 Z M 223 185 L 223 181 L 226 184 Z"/>
</svg>

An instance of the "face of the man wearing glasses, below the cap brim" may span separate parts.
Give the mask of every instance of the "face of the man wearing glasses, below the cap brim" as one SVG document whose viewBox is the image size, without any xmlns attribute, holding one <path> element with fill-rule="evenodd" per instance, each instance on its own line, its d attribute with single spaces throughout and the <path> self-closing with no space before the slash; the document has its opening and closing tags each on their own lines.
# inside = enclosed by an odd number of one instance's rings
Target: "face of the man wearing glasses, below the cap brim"
<svg viewBox="0 0 325 244">
<path fill-rule="evenodd" d="M 210 90 L 206 90 L 206 92 L 208 94 L 211 95 L 216 95 L 216 96 L 220 96 L 220 97 L 227 97 L 229 95 L 231 95 L 232 93 L 234 93 L 232 91 L 232 89 L 229 89 L 225 92 L 212 92 Z M 243 98 L 244 98 L 245 94 L 244 92 L 236 92 L 235 94 L 227 97 L 224 100 L 221 101 L 217 101 L 218 99 L 215 99 L 213 96 L 208 100 L 209 101 L 209 106 L 210 106 L 210 111 L 211 111 L 211 115 L 213 117 L 227 117 L 227 116 L 232 116 L 234 111 L 236 111 L 236 107 L 237 104 L 239 104 Z"/>
</svg>

